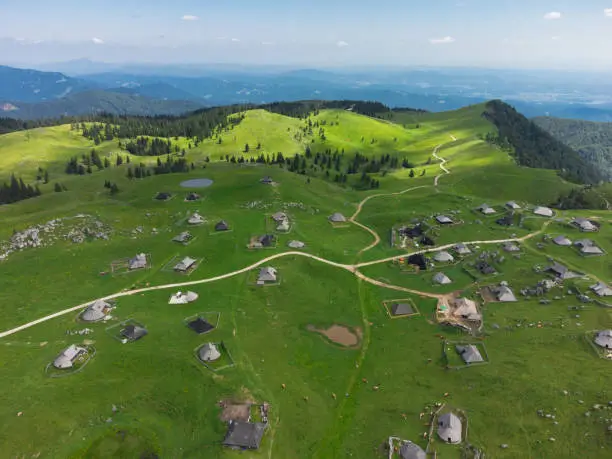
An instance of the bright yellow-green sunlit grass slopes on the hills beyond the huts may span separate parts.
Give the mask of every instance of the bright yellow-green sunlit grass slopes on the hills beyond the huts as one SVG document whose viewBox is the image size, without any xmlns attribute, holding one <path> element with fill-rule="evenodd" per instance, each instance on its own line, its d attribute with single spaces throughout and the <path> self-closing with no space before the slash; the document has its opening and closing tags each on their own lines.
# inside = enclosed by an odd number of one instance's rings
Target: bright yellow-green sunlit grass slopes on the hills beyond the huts
<svg viewBox="0 0 612 459">
<path fill-rule="evenodd" d="M 173 149 L 185 150 L 185 159 L 200 167 L 207 160 L 225 160 L 226 157 L 258 158 L 261 155 L 275 157 L 282 153 L 285 158 L 301 155 L 299 168 L 312 177 L 328 178 L 333 181 L 339 174 L 346 174 L 352 158 L 356 154 L 379 161 L 384 155 L 397 158 L 396 168 L 389 164 L 378 167 L 378 172 L 368 172 L 368 180 L 376 180 L 382 187 L 402 188 L 405 180 L 414 174 L 430 177 L 439 172 L 437 160 L 432 153 L 440 146 L 445 157 L 460 174 L 450 178 L 449 183 L 473 185 L 476 181 L 491 182 L 486 187 L 485 195 L 490 192 L 503 194 L 505 189 L 517 190 L 520 196 L 534 196 L 538 202 L 553 201 L 561 192 L 568 189 L 553 171 L 536 172 L 529 169 L 518 169 L 511 157 L 504 151 L 482 140 L 495 128 L 481 114 L 483 105 L 475 105 L 448 113 L 399 112 L 392 114 L 392 120 L 381 120 L 339 109 L 324 109 L 316 115 L 299 119 L 266 110 L 249 110 L 238 124 L 228 124 L 216 131 L 210 138 L 198 142 L 194 138 L 172 137 Z M 321 136 L 323 133 L 323 136 Z M 452 139 L 456 139 L 453 141 Z M 67 161 L 73 156 L 89 155 L 92 148 L 102 158 L 109 158 L 114 165 L 117 154 L 129 156 L 118 147 L 118 140 L 103 141 L 95 145 L 93 141 L 79 136 L 78 131 L 68 126 L 41 128 L 20 131 L 0 136 L 0 174 L 4 180 L 11 173 L 20 173 L 26 181 L 31 181 L 42 167 L 50 172 L 50 181 L 64 181 L 63 174 Z M 246 145 L 249 151 L 246 152 Z M 306 148 L 312 157 L 305 158 Z M 314 163 L 314 156 L 337 154 L 341 158 L 327 167 Z M 144 163 L 154 165 L 155 157 L 131 157 L 132 164 Z M 403 160 L 409 167 L 401 167 Z M 331 158 L 330 158 L 331 161 Z M 303 166 L 306 167 L 303 167 Z M 348 176 L 345 186 L 363 187 L 361 168 Z M 375 170 L 376 170 L 375 169 Z M 411 171 L 413 169 L 413 171 Z M 504 177 L 504 186 L 496 181 L 496 174 Z M 543 174 L 543 175 L 542 175 Z M 94 171 L 94 175 L 96 172 Z M 523 187 L 524 180 L 533 180 L 536 176 L 547 177 L 545 193 L 536 195 Z M 2 177 L 0 176 L 0 179 Z M 444 178 L 443 180 L 447 180 Z M 40 185 L 40 184 L 39 184 Z M 461 188 L 458 191 L 479 193 L 479 185 L 471 189 Z M 368 186 L 369 187 L 369 186 Z M 48 187 L 47 187 L 48 188 Z M 42 188 L 45 191 L 45 187 Z"/>
</svg>

